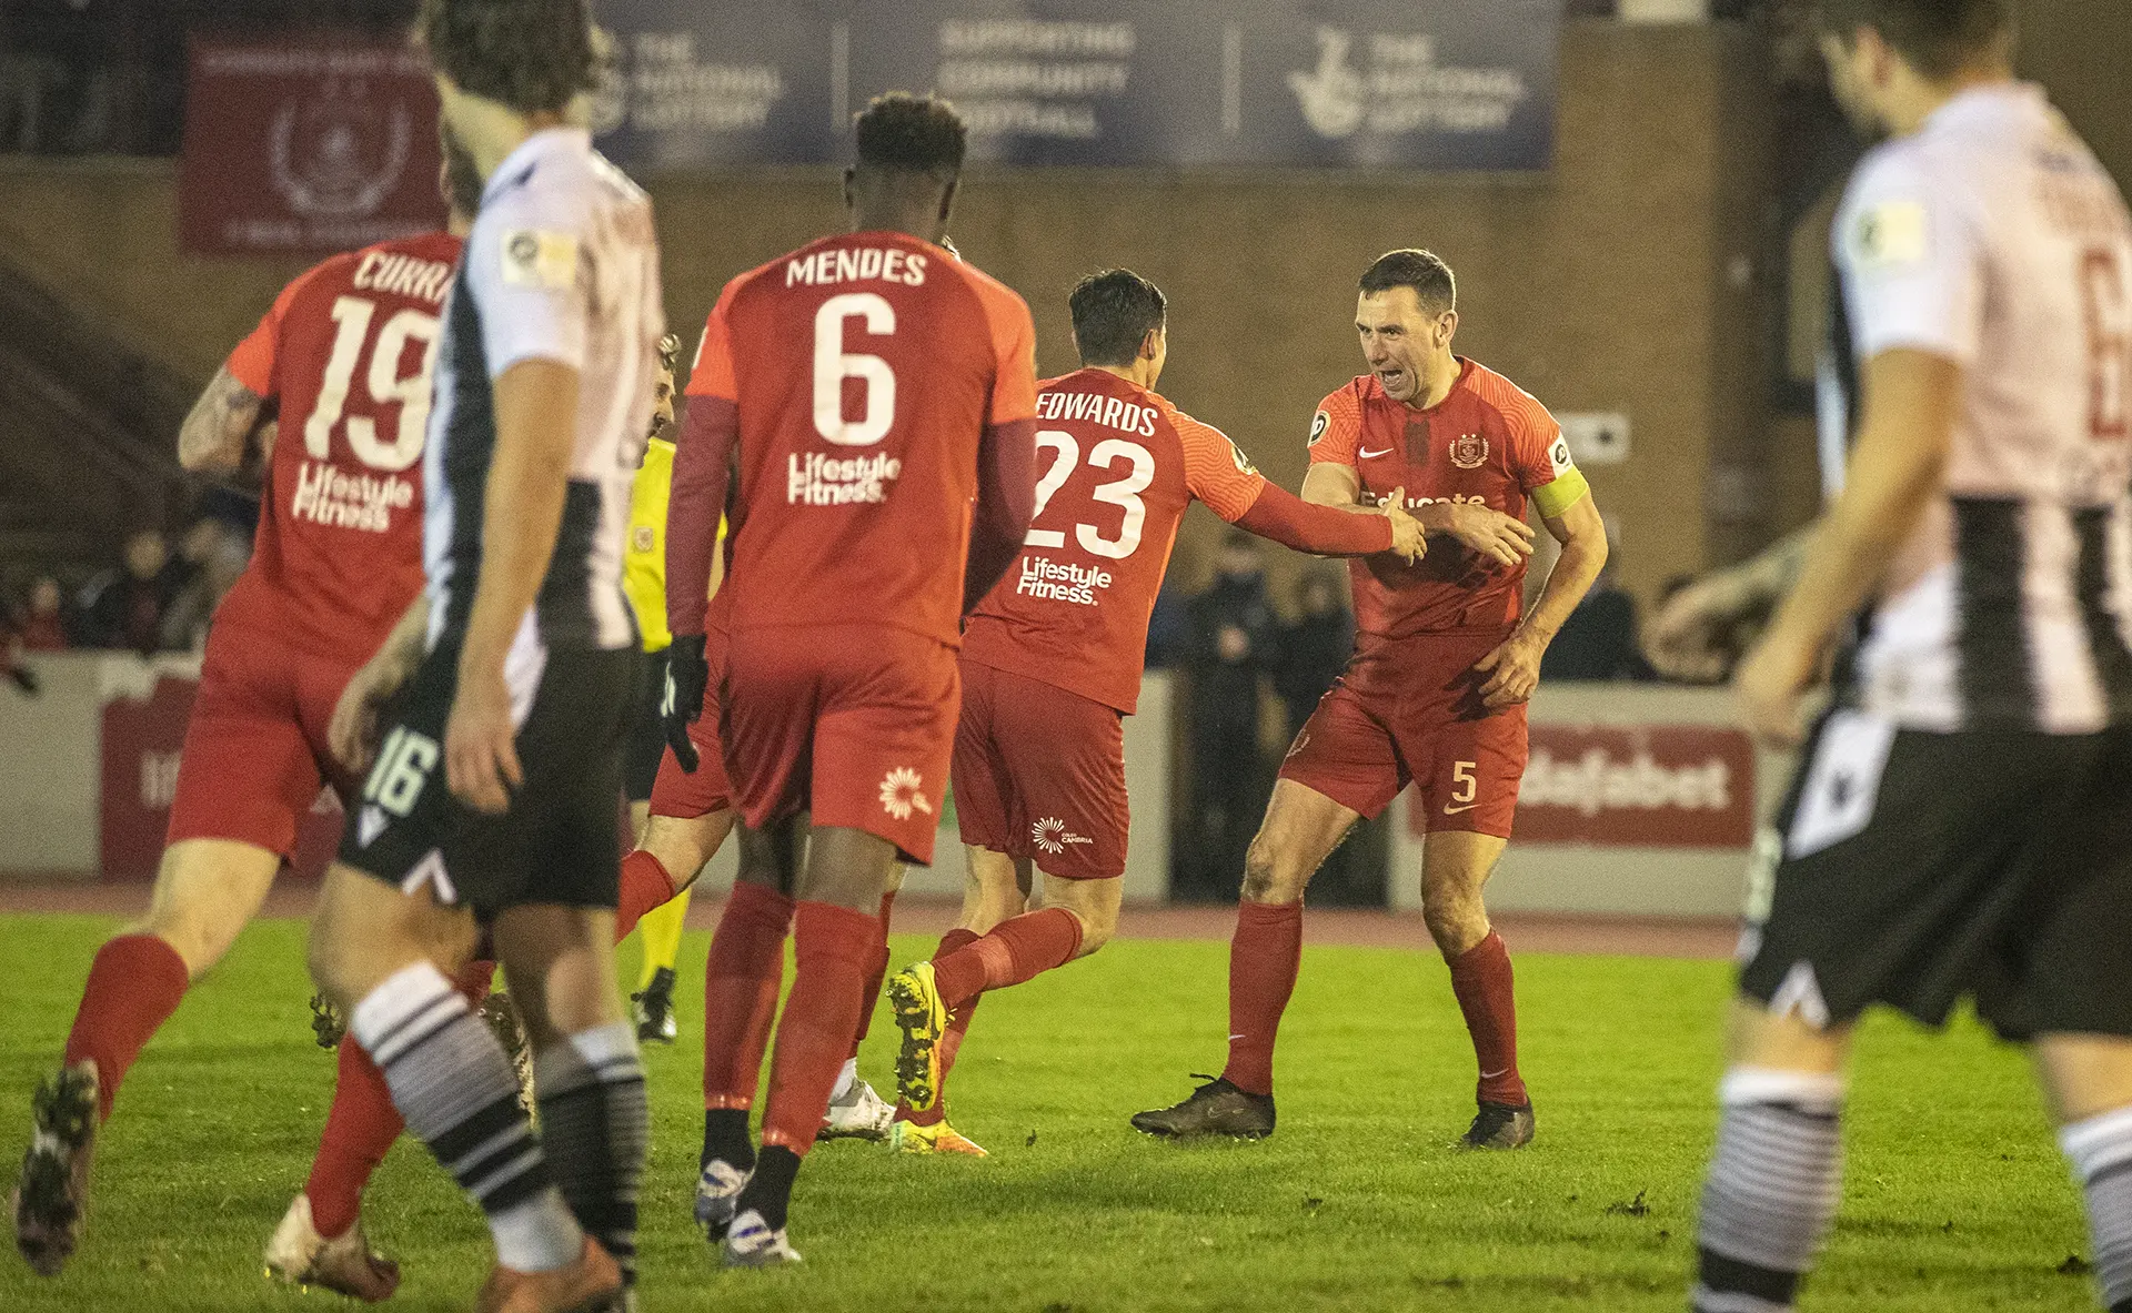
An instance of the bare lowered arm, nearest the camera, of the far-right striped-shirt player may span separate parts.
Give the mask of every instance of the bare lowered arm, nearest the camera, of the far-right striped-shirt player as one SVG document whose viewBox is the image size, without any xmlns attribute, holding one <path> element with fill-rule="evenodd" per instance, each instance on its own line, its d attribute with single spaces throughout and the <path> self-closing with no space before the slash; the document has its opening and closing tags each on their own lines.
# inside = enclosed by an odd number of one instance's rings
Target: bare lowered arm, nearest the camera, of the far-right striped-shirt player
<svg viewBox="0 0 2132 1313">
<path fill-rule="evenodd" d="M 1733 678 L 1748 729 L 1778 744 L 1804 737 L 1799 695 L 1947 480 L 1961 364 L 1893 347 L 1866 362 L 1861 384 L 1866 414 L 1844 490 L 1814 524 L 1799 582 Z"/>
</svg>

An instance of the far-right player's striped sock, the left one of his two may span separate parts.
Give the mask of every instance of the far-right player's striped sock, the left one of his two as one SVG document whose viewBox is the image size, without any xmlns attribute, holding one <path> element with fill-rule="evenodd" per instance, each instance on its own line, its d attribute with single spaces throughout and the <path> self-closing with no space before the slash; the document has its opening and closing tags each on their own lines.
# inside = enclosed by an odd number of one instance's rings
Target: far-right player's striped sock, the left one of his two
<svg viewBox="0 0 2132 1313">
<path fill-rule="evenodd" d="M 1842 1200 L 1844 1079 L 1733 1068 L 1697 1223 L 1697 1313 L 1789 1313 Z"/>
</svg>

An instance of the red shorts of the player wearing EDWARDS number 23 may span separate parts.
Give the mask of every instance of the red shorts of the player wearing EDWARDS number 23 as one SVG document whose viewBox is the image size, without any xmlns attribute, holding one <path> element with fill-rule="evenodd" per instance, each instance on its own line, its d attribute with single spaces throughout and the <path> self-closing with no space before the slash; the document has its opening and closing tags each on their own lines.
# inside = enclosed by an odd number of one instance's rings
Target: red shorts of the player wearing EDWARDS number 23
<svg viewBox="0 0 2132 1313">
<path fill-rule="evenodd" d="M 1126 718 L 1043 680 L 962 663 L 955 727 L 962 842 L 1047 876 L 1126 874 Z"/>
</svg>

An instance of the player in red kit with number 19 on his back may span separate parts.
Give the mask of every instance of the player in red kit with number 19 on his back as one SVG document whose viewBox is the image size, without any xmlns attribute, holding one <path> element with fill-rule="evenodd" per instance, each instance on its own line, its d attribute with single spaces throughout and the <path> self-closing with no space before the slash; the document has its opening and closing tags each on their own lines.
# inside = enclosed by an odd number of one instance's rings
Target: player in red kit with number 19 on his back
<svg viewBox="0 0 2132 1313">
<path fill-rule="evenodd" d="M 320 787 L 354 806 L 356 780 L 333 755 L 328 723 L 422 586 L 414 467 L 439 307 L 482 198 L 480 175 L 454 164 L 448 151 L 450 232 L 335 256 L 296 277 L 179 433 L 185 469 L 241 475 L 264 463 L 258 537 L 207 635 L 149 912 L 98 949 L 64 1068 L 36 1096 L 11 1213 L 38 1273 L 58 1273 L 81 1241 L 96 1128 L 126 1068 L 258 912 Z M 324 1200 L 313 1281 L 382 1298 L 397 1273 L 362 1238 L 360 1179 L 337 1183 L 367 1174 L 341 1149 L 390 1145 L 399 1119 L 379 1085 L 350 1081 L 335 1123 L 313 1170 Z"/>
</svg>

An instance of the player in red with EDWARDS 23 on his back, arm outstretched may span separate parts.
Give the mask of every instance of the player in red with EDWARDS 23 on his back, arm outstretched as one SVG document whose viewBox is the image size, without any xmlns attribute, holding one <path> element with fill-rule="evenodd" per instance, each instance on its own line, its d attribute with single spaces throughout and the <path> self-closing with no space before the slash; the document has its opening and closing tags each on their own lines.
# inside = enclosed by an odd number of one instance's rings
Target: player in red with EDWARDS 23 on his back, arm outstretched
<svg viewBox="0 0 2132 1313">
<path fill-rule="evenodd" d="M 1362 516 L 1311 505 L 1153 390 L 1168 307 L 1151 281 L 1094 273 L 1068 307 L 1081 371 L 1038 388 L 1036 518 L 962 642 L 962 923 L 932 961 L 889 983 L 904 1027 L 893 1142 L 912 1153 L 983 1153 L 947 1125 L 942 1083 L 985 991 L 1087 957 L 1117 929 L 1124 716 L 1141 695 L 1147 618 L 1185 507 L 1205 501 L 1298 552 L 1422 556 L 1422 526 L 1401 497 Z M 1032 872 L 1043 906 L 1015 914 Z"/>
</svg>

